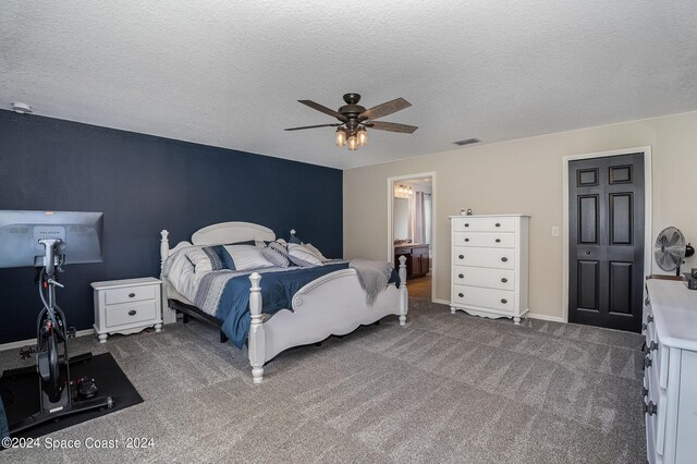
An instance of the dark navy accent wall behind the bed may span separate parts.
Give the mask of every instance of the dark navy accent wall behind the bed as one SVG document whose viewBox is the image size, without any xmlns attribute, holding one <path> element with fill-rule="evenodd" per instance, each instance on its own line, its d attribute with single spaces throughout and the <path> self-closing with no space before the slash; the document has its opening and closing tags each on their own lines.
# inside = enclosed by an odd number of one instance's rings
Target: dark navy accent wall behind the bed
<svg viewBox="0 0 697 464">
<path fill-rule="evenodd" d="M 279 158 L 0 110 L 0 209 L 102 211 L 105 261 L 66 266 L 58 303 L 94 323 L 90 282 L 158 277 L 170 245 L 216 222 L 295 229 L 342 253 L 342 172 Z M 34 269 L 0 269 L 0 343 L 36 335 Z"/>
</svg>

